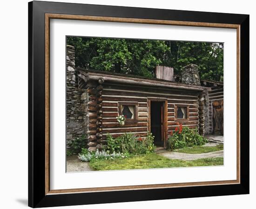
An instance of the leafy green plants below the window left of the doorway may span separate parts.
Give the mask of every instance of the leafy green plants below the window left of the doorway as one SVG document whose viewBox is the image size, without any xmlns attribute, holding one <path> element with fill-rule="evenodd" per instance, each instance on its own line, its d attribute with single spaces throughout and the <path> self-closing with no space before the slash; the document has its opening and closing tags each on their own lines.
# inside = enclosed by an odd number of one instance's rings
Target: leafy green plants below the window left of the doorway
<svg viewBox="0 0 256 209">
<path fill-rule="evenodd" d="M 153 152 L 155 149 L 154 136 L 152 133 L 148 133 L 147 137 L 144 139 L 141 137 L 136 138 L 134 134 L 130 133 L 125 133 L 116 138 L 108 134 L 106 142 L 107 146 L 105 150 L 108 153 L 121 152 L 138 155 Z"/>
</svg>

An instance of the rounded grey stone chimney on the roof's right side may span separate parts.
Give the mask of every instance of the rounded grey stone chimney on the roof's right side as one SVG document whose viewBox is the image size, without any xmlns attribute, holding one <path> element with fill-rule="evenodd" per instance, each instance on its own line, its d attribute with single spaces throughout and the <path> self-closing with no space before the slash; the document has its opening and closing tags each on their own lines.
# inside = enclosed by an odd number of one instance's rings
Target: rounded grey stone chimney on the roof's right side
<svg viewBox="0 0 256 209">
<path fill-rule="evenodd" d="M 182 83 L 188 85 L 201 85 L 197 65 L 189 64 L 182 68 Z"/>
</svg>

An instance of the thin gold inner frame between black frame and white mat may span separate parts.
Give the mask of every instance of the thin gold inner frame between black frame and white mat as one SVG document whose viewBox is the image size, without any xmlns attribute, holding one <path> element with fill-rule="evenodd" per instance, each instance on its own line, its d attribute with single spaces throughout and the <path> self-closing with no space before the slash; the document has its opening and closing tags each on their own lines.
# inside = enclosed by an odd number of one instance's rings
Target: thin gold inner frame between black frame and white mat
<svg viewBox="0 0 256 209">
<path fill-rule="evenodd" d="M 81 188 L 81 189 L 56 189 L 50 190 L 50 19 L 65 20 L 91 20 L 91 21 L 108 21 L 108 22 L 125 22 L 125 23 L 142 23 L 142 24 L 159 24 L 159 25 L 176 25 L 176 26 L 201 26 L 201 27 L 221 27 L 236 29 L 236 180 L 228 181 L 209 181 L 209 182 L 191 182 L 191 183 L 167 183 L 167 184 L 150 184 L 134 186 L 117 186 L 117 187 L 98 187 L 98 188 Z M 45 14 L 45 195 L 60 193 L 77 193 L 77 192 L 101 192 L 113 190 L 135 190 L 135 189 L 161 189 L 171 187 L 187 186 L 206 186 L 220 184 L 239 184 L 240 183 L 240 25 L 207 23 L 207 22 L 188 22 L 174 20 L 149 20 L 133 18 L 116 18 L 116 17 L 99 17 L 85 15 L 69 14 Z"/>
</svg>

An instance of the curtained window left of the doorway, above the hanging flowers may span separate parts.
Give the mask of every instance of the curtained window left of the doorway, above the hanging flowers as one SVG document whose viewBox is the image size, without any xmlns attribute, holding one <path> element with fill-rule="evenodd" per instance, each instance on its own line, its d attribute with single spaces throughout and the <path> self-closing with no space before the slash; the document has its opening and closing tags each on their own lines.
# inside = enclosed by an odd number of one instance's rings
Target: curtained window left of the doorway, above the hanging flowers
<svg viewBox="0 0 256 209">
<path fill-rule="evenodd" d="M 126 123 L 135 123 L 138 119 L 138 103 L 118 102 L 118 113 L 126 117 Z"/>
</svg>

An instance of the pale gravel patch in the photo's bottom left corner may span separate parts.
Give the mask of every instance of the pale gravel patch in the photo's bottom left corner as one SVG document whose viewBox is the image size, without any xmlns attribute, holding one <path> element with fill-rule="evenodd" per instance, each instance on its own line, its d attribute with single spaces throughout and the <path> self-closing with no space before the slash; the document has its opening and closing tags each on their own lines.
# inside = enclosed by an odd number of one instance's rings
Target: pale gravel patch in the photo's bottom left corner
<svg viewBox="0 0 256 209">
<path fill-rule="evenodd" d="M 89 163 L 81 162 L 77 155 L 67 156 L 67 173 L 91 171 Z"/>
</svg>

